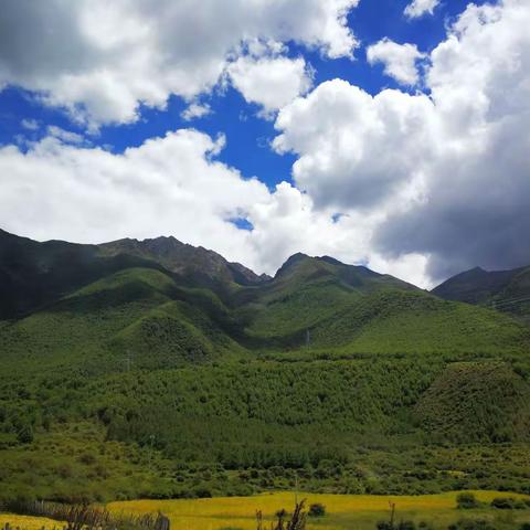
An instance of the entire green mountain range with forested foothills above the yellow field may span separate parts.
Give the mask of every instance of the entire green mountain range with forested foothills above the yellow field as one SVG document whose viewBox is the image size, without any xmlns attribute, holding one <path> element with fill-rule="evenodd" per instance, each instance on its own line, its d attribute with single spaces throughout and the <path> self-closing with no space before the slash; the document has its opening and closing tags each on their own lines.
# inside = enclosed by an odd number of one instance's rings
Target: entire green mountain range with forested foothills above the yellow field
<svg viewBox="0 0 530 530">
<path fill-rule="evenodd" d="M 173 237 L 0 231 L 6 495 L 242 495 L 295 470 L 326 491 L 522 490 L 530 462 L 501 471 L 506 444 L 528 454 L 530 329 L 480 304 L 527 279 L 466 274 L 426 293 L 327 256 L 268 277 Z M 469 444 L 492 448 L 455 485 Z"/>
</svg>

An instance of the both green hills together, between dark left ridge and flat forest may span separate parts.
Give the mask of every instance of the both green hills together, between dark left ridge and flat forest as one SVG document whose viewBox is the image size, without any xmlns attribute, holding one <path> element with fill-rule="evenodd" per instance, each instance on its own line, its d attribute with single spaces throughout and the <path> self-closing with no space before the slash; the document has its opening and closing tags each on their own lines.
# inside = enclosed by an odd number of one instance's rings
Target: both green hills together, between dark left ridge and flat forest
<svg viewBox="0 0 530 530">
<path fill-rule="evenodd" d="M 222 299 L 161 268 L 112 273 L 0 324 L 17 369 L 169 369 L 263 352 L 519 354 L 527 327 L 331 258 L 292 257 Z M 23 367 L 23 368 L 22 368 Z"/>
</svg>

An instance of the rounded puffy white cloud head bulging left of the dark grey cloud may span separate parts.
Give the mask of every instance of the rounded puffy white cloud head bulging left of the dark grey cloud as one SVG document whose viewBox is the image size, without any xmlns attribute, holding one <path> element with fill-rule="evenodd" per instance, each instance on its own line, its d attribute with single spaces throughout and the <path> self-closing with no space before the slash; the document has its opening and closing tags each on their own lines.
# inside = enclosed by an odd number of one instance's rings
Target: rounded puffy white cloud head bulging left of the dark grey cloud
<svg viewBox="0 0 530 530">
<path fill-rule="evenodd" d="M 298 156 L 293 177 L 317 205 L 367 210 L 420 189 L 432 119 L 427 96 L 335 80 L 280 110 L 273 146 Z"/>
</svg>

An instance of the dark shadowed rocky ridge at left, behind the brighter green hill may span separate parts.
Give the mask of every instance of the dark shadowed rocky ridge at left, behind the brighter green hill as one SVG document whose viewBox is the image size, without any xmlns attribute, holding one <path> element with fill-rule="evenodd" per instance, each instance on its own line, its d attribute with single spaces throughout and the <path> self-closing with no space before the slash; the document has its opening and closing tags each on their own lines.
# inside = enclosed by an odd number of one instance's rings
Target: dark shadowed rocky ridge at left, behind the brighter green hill
<svg viewBox="0 0 530 530">
<path fill-rule="evenodd" d="M 61 241 L 38 243 L 0 230 L 0 319 L 30 314 L 92 282 L 131 267 L 163 271 L 179 278 L 180 284 L 223 292 L 269 279 L 174 237 L 78 245 Z"/>
</svg>

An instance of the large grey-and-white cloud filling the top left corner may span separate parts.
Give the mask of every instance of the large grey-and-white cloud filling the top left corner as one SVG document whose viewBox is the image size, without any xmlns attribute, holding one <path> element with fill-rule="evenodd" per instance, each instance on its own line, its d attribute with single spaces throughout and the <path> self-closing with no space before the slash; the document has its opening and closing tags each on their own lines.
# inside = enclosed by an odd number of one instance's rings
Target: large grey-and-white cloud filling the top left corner
<svg viewBox="0 0 530 530">
<path fill-rule="evenodd" d="M 15 85 L 92 127 L 211 89 L 243 42 L 295 41 L 351 56 L 358 0 L 6 0 L 0 88 Z"/>
</svg>

